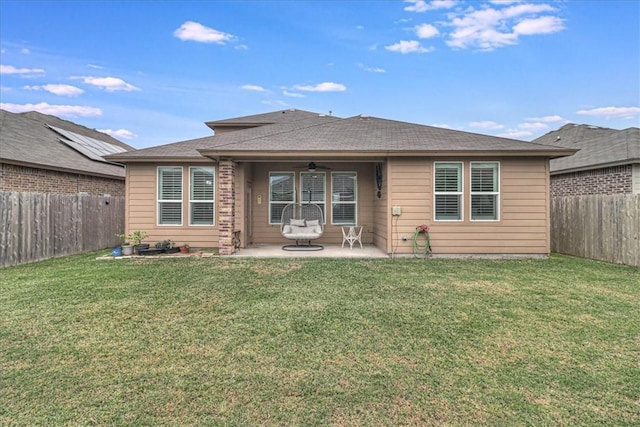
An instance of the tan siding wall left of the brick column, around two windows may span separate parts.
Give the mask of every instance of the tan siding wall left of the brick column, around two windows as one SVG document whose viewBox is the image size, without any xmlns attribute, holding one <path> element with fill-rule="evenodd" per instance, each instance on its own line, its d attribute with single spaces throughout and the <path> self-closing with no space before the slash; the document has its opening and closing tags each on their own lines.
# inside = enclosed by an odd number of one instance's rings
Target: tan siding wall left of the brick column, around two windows
<svg viewBox="0 0 640 427">
<path fill-rule="evenodd" d="M 158 225 L 157 212 L 157 173 L 158 166 L 181 166 L 183 179 L 182 225 Z M 214 226 L 189 226 L 189 166 L 204 166 L 203 163 L 168 163 L 168 164 L 138 164 L 127 165 L 127 196 L 126 196 L 126 231 L 144 230 L 149 234 L 145 243 L 154 244 L 165 239 L 171 239 L 176 244 L 189 243 L 194 248 L 209 248 L 218 246 L 218 228 Z M 218 210 L 218 168 L 214 163 L 206 164 L 216 168 L 216 205 L 215 221 L 217 224 Z M 133 184 L 133 185 L 132 185 Z"/>
</svg>

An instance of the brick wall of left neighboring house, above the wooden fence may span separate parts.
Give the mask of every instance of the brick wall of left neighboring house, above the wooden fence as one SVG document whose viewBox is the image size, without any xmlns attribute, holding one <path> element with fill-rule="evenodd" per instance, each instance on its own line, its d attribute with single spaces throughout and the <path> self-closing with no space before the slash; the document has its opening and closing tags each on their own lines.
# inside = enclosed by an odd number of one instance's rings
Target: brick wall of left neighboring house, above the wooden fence
<svg viewBox="0 0 640 427">
<path fill-rule="evenodd" d="M 124 196 L 124 180 L 0 163 L 0 191 Z"/>
</svg>

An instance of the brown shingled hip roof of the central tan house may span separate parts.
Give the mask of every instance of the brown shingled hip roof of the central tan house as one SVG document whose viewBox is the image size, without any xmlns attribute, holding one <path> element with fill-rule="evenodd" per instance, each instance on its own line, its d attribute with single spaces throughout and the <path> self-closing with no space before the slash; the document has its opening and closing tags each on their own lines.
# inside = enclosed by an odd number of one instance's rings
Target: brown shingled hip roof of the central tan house
<svg viewBox="0 0 640 427">
<path fill-rule="evenodd" d="M 295 110 L 297 111 L 297 110 Z M 291 113 L 288 110 L 284 113 Z M 560 157 L 575 150 L 508 138 L 423 126 L 368 116 L 342 119 L 301 112 L 295 120 L 250 127 L 174 144 L 151 147 L 108 158 L 121 162 L 205 160 L 207 157 L 264 159 L 299 157 L 305 153 L 326 158 L 410 155 L 522 155 Z M 247 116 L 277 117 L 282 112 Z M 294 116 L 294 114 L 291 114 Z M 247 117 L 240 121 L 249 123 Z M 238 119 L 227 122 L 239 123 Z M 216 122 L 219 123 L 219 122 Z"/>
</svg>

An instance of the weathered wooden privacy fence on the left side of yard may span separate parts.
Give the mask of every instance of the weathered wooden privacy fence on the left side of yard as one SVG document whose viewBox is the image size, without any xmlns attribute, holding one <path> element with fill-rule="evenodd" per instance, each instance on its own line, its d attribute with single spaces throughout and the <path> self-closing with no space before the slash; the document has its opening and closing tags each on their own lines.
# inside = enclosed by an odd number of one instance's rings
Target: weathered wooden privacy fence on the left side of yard
<svg viewBox="0 0 640 427">
<path fill-rule="evenodd" d="M 115 246 L 124 197 L 0 191 L 0 267 Z"/>
</svg>

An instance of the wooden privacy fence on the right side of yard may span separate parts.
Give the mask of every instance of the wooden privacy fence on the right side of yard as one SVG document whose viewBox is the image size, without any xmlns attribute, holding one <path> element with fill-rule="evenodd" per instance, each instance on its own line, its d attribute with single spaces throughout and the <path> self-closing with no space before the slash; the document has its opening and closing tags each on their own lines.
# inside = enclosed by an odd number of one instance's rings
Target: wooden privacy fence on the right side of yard
<svg viewBox="0 0 640 427">
<path fill-rule="evenodd" d="M 640 266 L 640 195 L 553 197 L 551 251 Z"/>
</svg>

